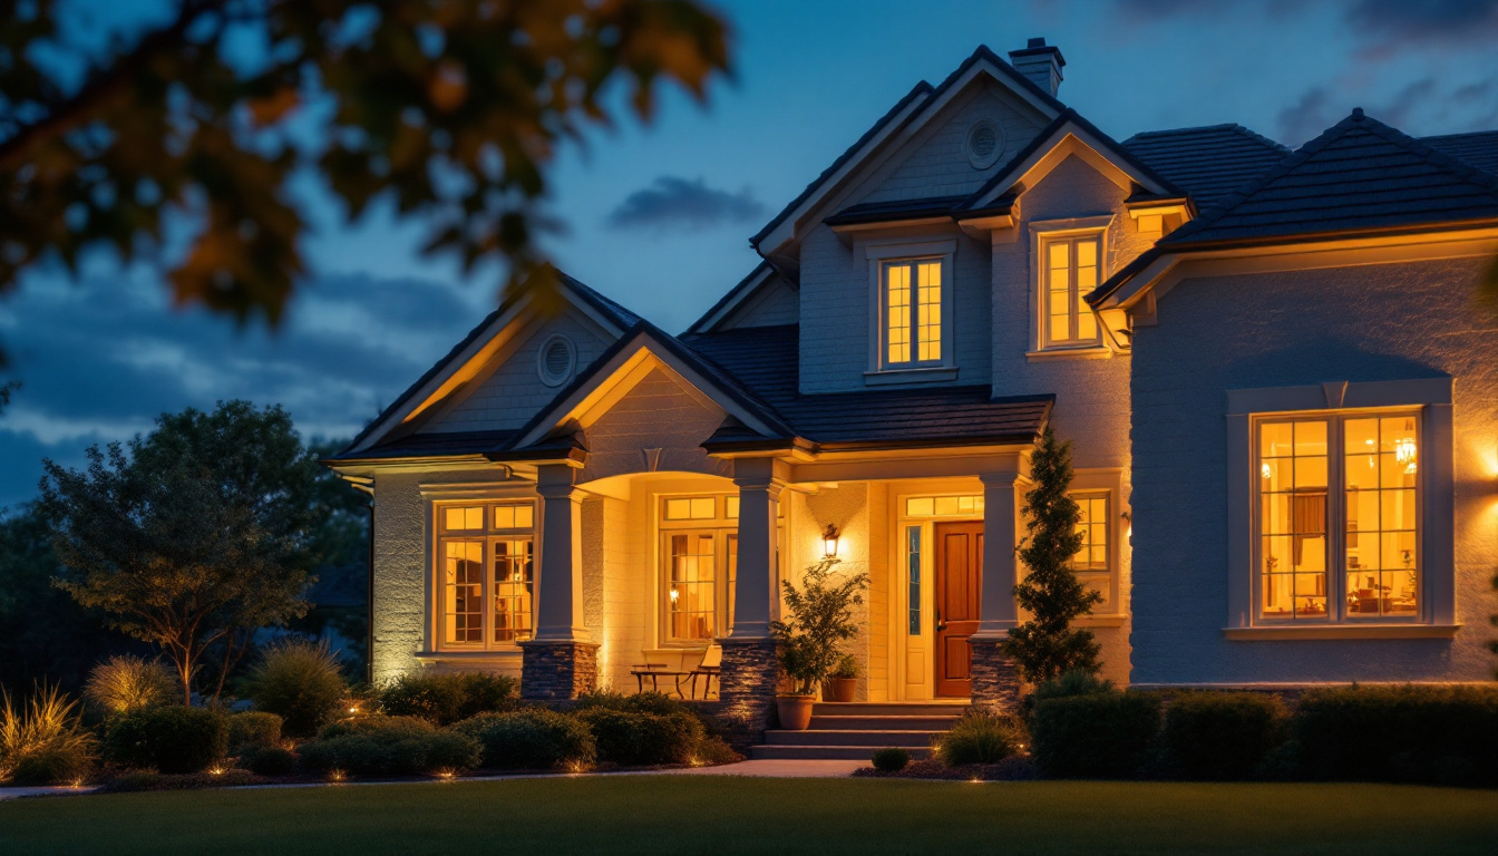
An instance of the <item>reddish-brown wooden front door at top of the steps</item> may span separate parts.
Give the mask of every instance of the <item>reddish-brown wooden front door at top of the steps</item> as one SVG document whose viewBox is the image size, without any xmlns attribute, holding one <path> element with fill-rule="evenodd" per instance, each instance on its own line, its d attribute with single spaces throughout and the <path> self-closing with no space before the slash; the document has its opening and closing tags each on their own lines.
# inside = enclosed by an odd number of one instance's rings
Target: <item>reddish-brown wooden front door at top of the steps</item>
<svg viewBox="0 0 1498 856">
<path fill-rule="evenodd" d="M 972 694 L 983 603 L 983 523 L 936 523 L 936 696 Z"/>
</svg>

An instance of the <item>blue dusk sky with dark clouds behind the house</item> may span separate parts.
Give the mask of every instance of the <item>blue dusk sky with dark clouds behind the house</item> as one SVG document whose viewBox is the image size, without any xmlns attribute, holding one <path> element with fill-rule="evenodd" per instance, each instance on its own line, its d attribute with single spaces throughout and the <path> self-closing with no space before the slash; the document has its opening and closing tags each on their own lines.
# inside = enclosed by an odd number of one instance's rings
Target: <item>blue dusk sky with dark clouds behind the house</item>
<svg viewBox="0 0 1498 856">
<path fill-rule="evenodd" d="M 154 3 L 78 1 L 102 27 Z M 124 7 L 124 12 L 118 9 Z M 1297 147 L 1353 106 L 1423 136 L 1498 127 L 1498 0 L 743 1 L 736 79 L 700 108 L 677 91 L 653 124 L 596 130 L 565 153 L 547 241 L 572 276 L 668 330 L 756 262 L 748 244 L 920 79 L 974 48 L 1044 36 L 1067 58 L 1059 97 L 1116 139 L 1236 121 Z M 133 16 L 133 18 L 132 18 Z M 322 228 L 282 328 L 174 312 L 160 273 L 96 259 L 81 282 L 34 270 L 0 300 L 0 507 L 36 495 L 40 459 L 148 430 L 163 411 L 282 403 L 304 436 L 349 436 L 493 306 L 500 276 L 461 277 L 416 252 L 419 223 L 354 228 L 304 187 Z"/>
</svg>

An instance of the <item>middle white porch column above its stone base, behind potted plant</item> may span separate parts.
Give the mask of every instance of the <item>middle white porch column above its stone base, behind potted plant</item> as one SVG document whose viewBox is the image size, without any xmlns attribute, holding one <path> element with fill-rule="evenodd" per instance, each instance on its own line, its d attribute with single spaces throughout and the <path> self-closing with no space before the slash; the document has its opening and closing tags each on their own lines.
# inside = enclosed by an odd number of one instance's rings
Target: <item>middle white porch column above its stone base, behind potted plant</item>
<svg viewBox="0 0 1498 856">
<path fill-rule="evenodd" d="M 736 642 L 770 637 L 770 604 L 774 603 L 774 556 L 777 550 L 780 490 L 773 459 L 739 459 L 739 579 L 734 585 Z"/>
</svg>

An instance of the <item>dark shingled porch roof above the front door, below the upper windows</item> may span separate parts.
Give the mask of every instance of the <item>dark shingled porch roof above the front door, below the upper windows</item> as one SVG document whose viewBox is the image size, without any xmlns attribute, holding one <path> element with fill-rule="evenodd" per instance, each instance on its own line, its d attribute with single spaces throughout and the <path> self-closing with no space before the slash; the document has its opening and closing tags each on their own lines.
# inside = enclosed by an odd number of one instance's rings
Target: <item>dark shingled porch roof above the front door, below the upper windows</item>
<svg viewBox="0 0 1498 856">
<path fill-rule="evenodd" d="M 1028 442 L 1055 396 L 993 399 L 984 385 L 797 393 L 800 328 L 748 327 L 682 342 L 770 403 L 804 439 L 822 447 L 942 441 Z"/>
</svg>

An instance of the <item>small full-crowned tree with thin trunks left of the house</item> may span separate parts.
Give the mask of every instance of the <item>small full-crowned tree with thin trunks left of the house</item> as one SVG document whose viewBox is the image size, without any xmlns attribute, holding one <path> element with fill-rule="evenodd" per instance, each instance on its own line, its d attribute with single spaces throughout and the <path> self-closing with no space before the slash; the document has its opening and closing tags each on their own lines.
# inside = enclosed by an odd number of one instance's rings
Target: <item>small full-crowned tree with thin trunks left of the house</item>
<svg viewBox="0 0 1498 856">
<path fill-rule="evenodd" d="M 163 415 L 148 436 L 88 450 L 84 471 L 43 460 L 40 508 L 58 585 L 118 630 L 160 646 L 183 697 L 210 646 L 217 685 L 250 634 L 303 615 L 316 561 L 318 462 L 279 406 Z"/>
</svg>

